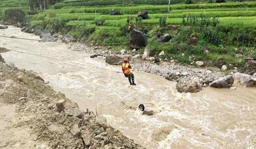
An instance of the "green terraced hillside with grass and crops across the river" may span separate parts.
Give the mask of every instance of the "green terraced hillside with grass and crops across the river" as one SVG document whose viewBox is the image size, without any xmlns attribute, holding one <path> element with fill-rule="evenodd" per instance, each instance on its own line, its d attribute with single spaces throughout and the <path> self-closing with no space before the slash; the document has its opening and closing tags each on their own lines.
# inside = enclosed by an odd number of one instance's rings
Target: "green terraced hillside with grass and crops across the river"
<svg viewBox="0 0 256 149">
<path fill-rule="evenodd" d="M 182 63 L 204 61 L 208 65 L 218 65 L 221 59 L 221 64 L 241 67 L 245 58 L 256 58 L 255 1 L 171 2 L 168 11 L 168 0 L 133 0 L 129 3 L 64 0 L 29 16 L 29 19 L 37 29 L 71 34 L 78 39 L 84 37 L 89 42 L 106 43 L 106 46 L 113 46 L 116 50 L 128 49 L 125 42 L 130 37 L 127 30 L 129 22 L 136 29 L 146 31 L 152 56 L 163 50 L 165 55 L 162 58 L 174 58 Z M 145 10 L 149 19 L 138 18 L 138 13 Z M 119 11 L 122 15 L 110 15 L 111 11 Z M 103 24 L 96 25 L 98 20 Z M 172 39 L 160 42 L 158 34 L 167 33 L 172 35 Z M 190 44 L 193 37 L 198 38 L 194 46 Z"/>
</svg>

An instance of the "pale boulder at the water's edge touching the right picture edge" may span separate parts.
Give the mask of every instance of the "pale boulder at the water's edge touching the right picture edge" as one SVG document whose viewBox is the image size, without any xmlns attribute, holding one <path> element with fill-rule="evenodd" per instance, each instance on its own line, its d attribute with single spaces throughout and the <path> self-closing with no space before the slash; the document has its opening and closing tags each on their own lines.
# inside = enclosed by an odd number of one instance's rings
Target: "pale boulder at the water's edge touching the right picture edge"
<svg viewBox="0 0 256 149">
<path fill-rule="evenodd" d="M 256 78 L 249 74 L 236 72 L 233 74 L 234 82 L 245 87 L 256 86 Z"/>
</svg>

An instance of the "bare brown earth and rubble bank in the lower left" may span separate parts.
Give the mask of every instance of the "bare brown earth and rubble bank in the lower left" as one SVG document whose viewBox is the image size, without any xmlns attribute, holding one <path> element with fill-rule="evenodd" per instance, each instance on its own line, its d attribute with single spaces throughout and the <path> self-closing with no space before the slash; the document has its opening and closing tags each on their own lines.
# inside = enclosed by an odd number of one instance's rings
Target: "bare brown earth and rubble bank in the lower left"
<svg viewBox="0 0 256 149">
<path fill-rule="evenodd" d="M 32 148 L 143 148 L 109 126 L 104 117 L 80 110 L 38 74 L 8 66 L 0 54 L 0 109 L 6 105 L 14 106 L 19 118 L 8 127 L 7 121 L 1 123 L 5 137 L 0 139 L 0 148 L 31 148 L 26 146 L 30 139 Z M 27 142 L 17 137 L 23 131 L 8 134 L 17 128 L 27 130 Z"/>
</svg>

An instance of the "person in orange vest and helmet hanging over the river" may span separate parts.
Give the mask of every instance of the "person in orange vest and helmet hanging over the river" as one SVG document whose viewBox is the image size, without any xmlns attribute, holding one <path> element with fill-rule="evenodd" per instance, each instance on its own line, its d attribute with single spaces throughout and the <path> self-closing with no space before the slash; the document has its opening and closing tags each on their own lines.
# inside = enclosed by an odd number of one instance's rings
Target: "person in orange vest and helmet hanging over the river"
<svg viewBox="0 0 256 149">
<path fill-rule="evenodd" d="M 134 83 L 134 74 L 131 72 L 132 66 L 128 61 L 128 57 L 124 57 L 123 64 L 122 64 L 122 71 L 126 78 L 128 78 L 130 85 L 136 85 Z"/>
</svg>

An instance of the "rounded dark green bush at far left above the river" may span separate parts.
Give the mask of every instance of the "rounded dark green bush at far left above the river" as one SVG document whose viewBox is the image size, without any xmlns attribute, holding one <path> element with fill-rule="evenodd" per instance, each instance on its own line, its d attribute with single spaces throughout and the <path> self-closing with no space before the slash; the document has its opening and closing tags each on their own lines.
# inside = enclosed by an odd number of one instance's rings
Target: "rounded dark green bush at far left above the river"
<svg viewBox="0 0 256 149">
<path fill-rule="evenodd" d="M 5 10 L 4 22 L 5 24 L 16 24 L 25 21 L 25 12 L 21 9 L 7 9 Z"/>
</svg>

